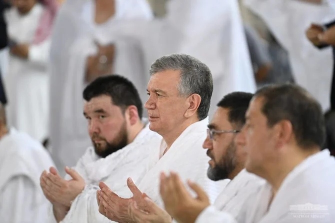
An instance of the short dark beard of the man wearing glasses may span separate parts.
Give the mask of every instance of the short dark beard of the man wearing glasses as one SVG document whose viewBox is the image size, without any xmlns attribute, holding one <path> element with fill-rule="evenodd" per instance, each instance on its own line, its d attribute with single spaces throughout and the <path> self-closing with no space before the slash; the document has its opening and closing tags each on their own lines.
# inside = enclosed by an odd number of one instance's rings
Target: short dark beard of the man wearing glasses
<svg viewBox="0 0 335 223">
<path fill-rule="evenodd" d="M 215 163 L 212 168 L 210 165 L 207 169 L 207 176 L 213 181 L 229 178 L 229 175 L 236 167 L 236 147 L 233 142 L 228 146 L 224 157 L 219 163 Z"/>
</svg>

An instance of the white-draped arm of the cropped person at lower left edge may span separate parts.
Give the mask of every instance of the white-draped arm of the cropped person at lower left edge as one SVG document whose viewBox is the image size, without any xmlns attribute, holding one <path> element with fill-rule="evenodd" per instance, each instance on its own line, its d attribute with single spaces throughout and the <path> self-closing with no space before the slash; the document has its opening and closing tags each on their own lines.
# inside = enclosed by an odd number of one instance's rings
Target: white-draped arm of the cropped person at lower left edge
<svg viewBox="0 0 335 223">
<path fill-rule="evenodd" d="M 37 214 L 45 214 L 36 208 L 36 186 L 25 175 L 12 177 L 0 193 L 0 221 L 21 223 L 36 222 Z"/>
</svg>

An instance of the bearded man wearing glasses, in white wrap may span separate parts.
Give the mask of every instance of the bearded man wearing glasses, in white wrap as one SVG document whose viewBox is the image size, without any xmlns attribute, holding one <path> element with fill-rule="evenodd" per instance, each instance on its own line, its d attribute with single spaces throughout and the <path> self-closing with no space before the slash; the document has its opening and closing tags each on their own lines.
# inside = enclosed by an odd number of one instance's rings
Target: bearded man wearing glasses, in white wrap
<svg viewBox="0 0 335 223">
<path fill-rule="evenodd" d="M 236 218 L 246 198 L 264 183 L 263 179 L 244 169 L 246 152 L 239 137 L 252 96 L 252 93 L 232 92 L 217 103 L 202 146 L 211 158 L 208 162 L 208 178 L 214 181 L 228 178 L 230 182 L 213 205 L 197 213 L 195 222 L 208 220 L 211 211 L 217 209 Z"/>
</svg>

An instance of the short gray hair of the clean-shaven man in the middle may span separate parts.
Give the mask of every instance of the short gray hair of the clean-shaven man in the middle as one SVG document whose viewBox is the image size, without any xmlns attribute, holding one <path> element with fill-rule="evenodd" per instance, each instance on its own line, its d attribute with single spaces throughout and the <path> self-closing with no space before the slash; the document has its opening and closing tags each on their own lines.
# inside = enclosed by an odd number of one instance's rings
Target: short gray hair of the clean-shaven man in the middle
<svg viewBox="0 0 335 223">
<path fill-rule="evenodd" d="M 199 120 L 208 115 L 210 98 L 213 92 L 213 79 L 206 64 L 186 54 L 165 55 L 156 59 L 150 67 L 150 76 L 164 70 L 179 70 L 180 81 L 177 89 L 180 96 L 197 93 L 201 97 L 197 109 Z"/>
</svg>

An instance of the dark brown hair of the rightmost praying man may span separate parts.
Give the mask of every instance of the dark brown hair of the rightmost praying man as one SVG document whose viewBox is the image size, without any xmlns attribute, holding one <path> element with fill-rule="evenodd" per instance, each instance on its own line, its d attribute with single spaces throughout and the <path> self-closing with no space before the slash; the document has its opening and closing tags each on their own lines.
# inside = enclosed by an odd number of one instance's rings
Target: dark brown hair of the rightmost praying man
<svg viewBox="0 0 335 223">
<path fill-rule="evenodd" d="M 295 84 L 268 85 L 257 90 L 255 97 L 263 99 L 261 111 L 269 127 L 280 120 L 289 120 L 300 147 L 322 147 L 325 140 L 322 109 L 305 89 Z"/>
</svg>

